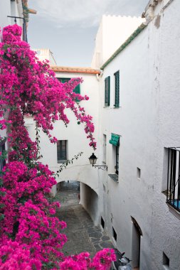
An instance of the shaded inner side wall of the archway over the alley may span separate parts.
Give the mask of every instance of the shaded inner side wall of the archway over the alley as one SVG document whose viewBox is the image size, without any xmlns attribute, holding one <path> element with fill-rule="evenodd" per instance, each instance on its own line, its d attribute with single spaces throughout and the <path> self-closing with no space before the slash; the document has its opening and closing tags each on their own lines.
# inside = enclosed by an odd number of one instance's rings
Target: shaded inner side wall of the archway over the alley
<svg viewBox="0 0 180 270">
<path fill-rule="evenodd" d="M 80 204 L 83 205 L 85 210 L 92 218 L 95 225 L 98 225 L 99 220 L 99 207 L 98 195 L 95 190 L 92 190 L 88 185 L 80 183 Z"/>
</svg>

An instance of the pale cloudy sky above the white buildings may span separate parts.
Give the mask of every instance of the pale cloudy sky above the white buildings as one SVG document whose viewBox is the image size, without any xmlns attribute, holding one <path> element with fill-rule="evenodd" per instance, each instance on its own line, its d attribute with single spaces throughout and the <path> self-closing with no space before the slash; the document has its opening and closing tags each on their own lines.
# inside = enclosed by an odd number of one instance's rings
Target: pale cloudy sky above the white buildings
<svg viewBox="0 0 180 270">
<path fill-rule="evenodd" d="M 141 16 L 148 0 L 28 0 L 28 43 L 50 48 L 58 65 L 89 67 L 103 14 Z"/>
</svg>

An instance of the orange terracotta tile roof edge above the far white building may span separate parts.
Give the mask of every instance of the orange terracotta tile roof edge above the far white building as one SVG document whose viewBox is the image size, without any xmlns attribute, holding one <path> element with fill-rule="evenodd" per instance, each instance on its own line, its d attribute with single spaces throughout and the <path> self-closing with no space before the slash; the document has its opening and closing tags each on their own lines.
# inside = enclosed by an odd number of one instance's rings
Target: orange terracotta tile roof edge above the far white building
<svg viewBox="0 0 180 270">
<path fill-rule="evenodd" d="M 98 74 L 100 75 L 100 70 L 94 70 L 92 68 L 73 68 L 73 67 L 59 67 L 51 66 L 51 70 L 54 72 L 67 72 L 67 73 L 86 73 L 86 74 Z"/>
</svg>

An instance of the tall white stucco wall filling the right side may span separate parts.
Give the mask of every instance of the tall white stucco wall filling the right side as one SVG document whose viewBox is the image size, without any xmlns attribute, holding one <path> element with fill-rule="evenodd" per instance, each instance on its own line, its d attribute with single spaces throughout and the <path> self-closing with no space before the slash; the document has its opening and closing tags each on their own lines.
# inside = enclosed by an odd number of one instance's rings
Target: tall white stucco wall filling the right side
<svg viewBox="0 0 180 270">
<path fill-rule="evenodd" d="M 107 135 L 108 173 L 114 173 L 111 133 L 120 135 L 119 183 L 103 175 L 102 215 L 117 248 L 132 257 L 132 220 L 142 229 L 140 269 L 180 269 L 180 215 L 162 194 L 164 147 L 179 146 L 180 2 L 163 11 L 103 71 L 100 91 L 100 135 Z M 160 16 L 160 18 L 159 18 Z M 120 70 L 120 108 L 114 109 L 114 73 Z M 104 79 L 111 77 L 110 107 L 104 107 Z M 101 151 L 102 156 L 102 151 Z M 137 167 L 141 178 L 137 178 Z M 166 179 L 165 179 L 166 181 Z"/>
</svg>

